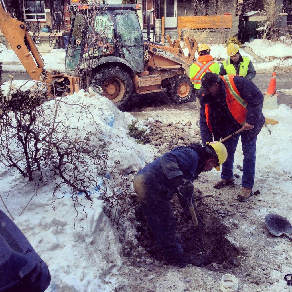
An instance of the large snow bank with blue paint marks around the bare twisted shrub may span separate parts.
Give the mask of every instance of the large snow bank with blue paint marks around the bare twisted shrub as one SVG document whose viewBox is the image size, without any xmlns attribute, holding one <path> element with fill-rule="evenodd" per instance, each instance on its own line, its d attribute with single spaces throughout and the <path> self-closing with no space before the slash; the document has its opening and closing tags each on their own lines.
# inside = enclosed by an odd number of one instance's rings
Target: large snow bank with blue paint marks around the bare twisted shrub
<svg viewBox="0 0 292 292">
<path fill-rule="evenodd" d="M 48 108 L 48 120 L 54 118 L 54 112 L 49 109 L 55 102 L 58 103 L 58 100 L 49 100 L 44 104 Z M 76 104 L 90 106 L 90 113 Z M 129 178 L 132 178 L 131 173 L 154 159 L 152 146 L 137 144 L 127 136 L 127 125 L 133 119 L 130 114 L 120 112 L 108 99 L 81 90 L 62 98 L 56 122 L 68 130 L 63 135 L 74 135 L 76 139 L 82 139 L 84 130 L 99 129 L 97 135 L 92 135 L 97 138 L 88 140 L 89 145 L 105 145 L 109 151 L 109 165 L 117 160 L 121 162 L 115 173 L 106 176 L 110 186 L 117 173 L 128 173 Z M 78 132 L 73 131 L 76 128 Z M 81 165 L 77 167 L 78 171 L 82 171 Z M 91 169 L 88 175 L 98 176 L 96 168 Z M 92 203 L 84 194 L 78 194 L 79 203 L 76 203 L 70 199 L 70 190 L 62 185 L 55 194 L 60 199 L 54 202 L 53 210 L 51 204 L 55 182 L 48 179 L 47 184 L 39 180 L 29 183 L 17 171 L 7 171 L 3 165 L 0 165 L 0 181 L 2 197 L 15 218 L 15 224 L 48 264 L 52 275 L 48 292 L 113 291 L 126 284 L 127 279 L 118 277 L 123 265 L 121 244 L 116 230 L 103 211 L 105 205 L 98 189 L 89 190 Z M 111 191 L 109 188 L 108 192 Z M 6 212 L 2 203 L 1 210 Z"/>
</svg>

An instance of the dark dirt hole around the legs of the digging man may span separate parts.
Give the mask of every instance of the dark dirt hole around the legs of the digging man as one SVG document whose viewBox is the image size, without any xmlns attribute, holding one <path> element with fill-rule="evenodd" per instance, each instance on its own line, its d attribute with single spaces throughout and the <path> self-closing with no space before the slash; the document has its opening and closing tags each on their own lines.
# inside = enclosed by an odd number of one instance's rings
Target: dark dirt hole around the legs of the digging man
<svg viewBox="0 0 292 292">
<path fill-rule="evenodd" d="M 187 221 L 183 215 L 182 207 L 175 196 L 172 199 L 172 210 L 176 218 L 177 234 L 185 252 L 185 261 L 196 266 L 206 267 L 211 265 L 223 265 L 223 267 L 238 266 L 239 262 L 235 259 L 239 255 L 238 249 L 233 246 L 225 237 L 228 228 L 220 222 L 220 218 L 208 210 L 207 202 L 204 199 L 199 201 L 197 206 L 200 217 L 204 223 L 204 245 L 206 252 L 202 253 L 201 244 L 193 232 L 192 221 Z M 142 207 L 139 205 L 135 209 L 135 216 L 138 223 L 137 240 L 150 255 L 162 261 L 163 256 L 155 243 L 150 225 L 143 214 Z M 213 264 L 213 266 L 212 266 Z"/>
</svg>

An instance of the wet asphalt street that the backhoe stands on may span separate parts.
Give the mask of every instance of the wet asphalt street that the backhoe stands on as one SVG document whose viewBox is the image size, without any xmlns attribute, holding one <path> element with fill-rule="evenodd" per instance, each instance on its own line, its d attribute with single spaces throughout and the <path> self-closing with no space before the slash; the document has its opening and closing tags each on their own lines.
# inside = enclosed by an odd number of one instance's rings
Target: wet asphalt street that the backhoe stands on
<svg viewBox="0 0 292 292">
<path fill-rule="evenodd" d="M 7 81 L 11 79 L 8 74 L 14 76 L 14 80 L 30 79 L 27 73 L 3 72 L 2 81 Z M 256 84 L 256 86 L 258 86 L 261 91 L 266 91 L 269 86 L 271 77 L 272 73 L 258 73 L 253 79 L 253 83 Z M 277 73 L 276 82 L 277 89 L 292 89 L 292 73 Z M 292 107 L 292 95 L 280 94 L 278 96 L 278 101 L 279 103 L 284 103 Z M 183 109 L 194 109 L 194 107 L 196 107 L 196 102 L 194 100 L 183 104 Z M 134 94 L 131 106 L 128 108 L 128 111 L 142 112 L 149 111 L 151 110 L 150 108 L 155 108 L 155 110 L 177 108 L 178 110 L 181 110 L 182 105 L 177 105 L 172 100 L 170 100 L 165 91 L 163 91 L 162 93 L 159 92 L 141 95 Z"/>
</svg>

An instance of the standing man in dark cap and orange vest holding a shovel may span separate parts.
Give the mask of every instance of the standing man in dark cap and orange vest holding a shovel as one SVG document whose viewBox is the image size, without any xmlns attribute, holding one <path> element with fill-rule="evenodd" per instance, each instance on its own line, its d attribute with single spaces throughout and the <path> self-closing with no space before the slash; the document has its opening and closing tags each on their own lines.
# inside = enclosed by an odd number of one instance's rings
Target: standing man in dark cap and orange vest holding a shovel
<svg viewBox="0 0 292 292">
<path fill-rule="evenodd" d="M 201 100 L 200 129 L 203 145 L 220 141 L 240 128 L 242 131 L 223 142 L 227 149 L 227 159 L 222 164 L 221 180 L 214 184 L 220 189 L 234 183 L 234 153 L 241 137 L 243 152 L 241 192 L 239 201 L 249 199 L 255 178 L 256 140 L 263 127 L 265 117 L 262 113 L 263 93 L 250 80 L 237 76 L 218 76 L 206 73 L 201 80 L 199 93 Z"/>
</svg>

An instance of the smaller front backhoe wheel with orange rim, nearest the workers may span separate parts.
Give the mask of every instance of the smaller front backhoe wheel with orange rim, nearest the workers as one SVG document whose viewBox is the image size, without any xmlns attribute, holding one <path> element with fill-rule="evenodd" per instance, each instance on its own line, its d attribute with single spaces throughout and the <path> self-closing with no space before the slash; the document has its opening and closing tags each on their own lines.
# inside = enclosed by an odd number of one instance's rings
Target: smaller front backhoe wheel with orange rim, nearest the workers
<svg viewBox="0 0 292 292">
<path fill-rule="evenodd" d="M 186 74 L 175 75 L 169 79 L 166 91 L 176 103 L 184 103 L 192 97 L 194 85 Z"/>
</svg>

